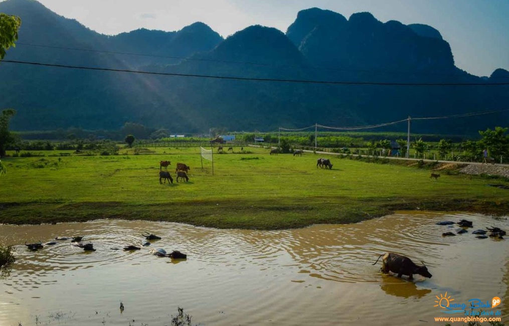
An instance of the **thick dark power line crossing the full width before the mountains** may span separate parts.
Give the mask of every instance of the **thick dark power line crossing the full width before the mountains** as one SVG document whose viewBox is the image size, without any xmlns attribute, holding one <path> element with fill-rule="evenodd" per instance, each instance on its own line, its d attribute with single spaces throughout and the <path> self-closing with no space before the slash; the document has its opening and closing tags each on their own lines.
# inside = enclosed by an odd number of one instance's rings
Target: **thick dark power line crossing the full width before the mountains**
<svg viewBox="0 0 509 326">
<path fill-rule="evenodd" d="M 500 86 L 500 85 L 509 85 L 509 82 L 500 82 L 500 83 L 458 83 L 458 82 L 456 82 L 456 83 L 397 83 L 397 82 L 369 82 L 369 81 L 325 81 L 325 80 L 306 80 L 306 79 L 250 78 L 250 77 L 213 76 L 213 75 L 200 75 L 200 74 L 163 73 L 163 72 L 137 71 L 137 70 L 113 69 L 113 68 L 94 68 L 94 67 L 82 67 L 82 66 L 43 64 L 43 63 L 15 61 L 15 60 L 3 60 L 2 62 L 23 64 L 23 65 L 44 66 L 44 67 L 97 70 L 97 71 L 112 71 L 112 72 L 127 72 L 127 73 L 159 75 L 159 76 L 200 77 L 200 78 L 230 79 L 230 80 L 273 81 L 273 82 L 335 84 L 335 85 L 377 85 L 377 86 Z"/>
</svg>

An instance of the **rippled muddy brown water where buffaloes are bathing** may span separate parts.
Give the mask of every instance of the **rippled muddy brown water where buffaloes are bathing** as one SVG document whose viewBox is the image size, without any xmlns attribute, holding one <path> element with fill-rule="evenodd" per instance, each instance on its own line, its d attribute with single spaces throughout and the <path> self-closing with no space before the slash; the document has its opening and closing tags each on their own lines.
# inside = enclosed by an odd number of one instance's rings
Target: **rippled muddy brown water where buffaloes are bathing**
<svg viewBox="0 0 509 326">
<path fill-rule="evenodd" d="M 0 225 L 0 243 L 15 245 L 17 258 L 0 280 L 0 325 L 167 325 L 177 307 L 201 325 L 445 324 L 433 319 L 450 316 L 433 307 L 443 296 L 458 304 L 499 297 L 493 311 L 507 323 L 508 242 L 475 239 L 473 229 L 443 238 L 454 228 L 435 223 L 460 219 L 509 230 L 507 220 L 430 212 L 280 231 L 117 220 Z M 134 252 L 111 249 L 138 245 L 143 231 L 162 239 Z M 72 235 L 97 250 L 23 245 Z M 188 259 L 159 258 L 151 247 Z M 372 263 L 387 251 L 424 261 L 433 277 L 381 274 Z"/>
</svg>

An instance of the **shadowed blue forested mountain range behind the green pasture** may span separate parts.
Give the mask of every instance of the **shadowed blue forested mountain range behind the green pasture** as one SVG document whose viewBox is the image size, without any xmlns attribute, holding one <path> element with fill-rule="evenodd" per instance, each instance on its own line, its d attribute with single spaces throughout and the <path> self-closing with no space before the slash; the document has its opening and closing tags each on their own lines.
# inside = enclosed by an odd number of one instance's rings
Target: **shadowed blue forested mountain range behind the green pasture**
<svg viewBox="0 0 509 326">
<path fill-rule="evenodd" d="M 347 19 L 310 8 L 286 34 L 253 25 L 227 39 L 202 22 L 106 36 L 35 0 L 1 2 L 0 12 L 22 19 L 5 60 L 96 68 L 0 63 L 0 108 L 17 110 L 13 130 L 118 129 L 125 122 L 175 133 L 360 126 L 505 109 L 509 100 L 507 85 L 482 85 L 507 82 L 506 70 L 473 76 L 455 66 L 435 28 L 382 23 L 366 12 Z M 465 82 L 480 85 L 439 86 Z M 476 134 L 508 118 L 505 111 L 412 128 Z"/>
</svg>

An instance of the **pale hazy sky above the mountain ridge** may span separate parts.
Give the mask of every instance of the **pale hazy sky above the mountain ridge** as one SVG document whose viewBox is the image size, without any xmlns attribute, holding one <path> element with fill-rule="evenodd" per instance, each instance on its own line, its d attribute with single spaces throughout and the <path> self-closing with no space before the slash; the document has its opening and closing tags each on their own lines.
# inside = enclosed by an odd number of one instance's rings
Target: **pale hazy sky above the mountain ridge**
<svg viewBox="0 0 509 326">
<path fill-rule="evenodd" d="M 456 66 L 477 76 L 509 70 L 509 0 L 39 0 L 96 32 L 116 35 L 141 27 L 178 31 L 202 21 L 223 37 L 260 24 L 286 32 L 300 10 L 368 11 L 382 22 L 435 27 Z"/>
</svg>

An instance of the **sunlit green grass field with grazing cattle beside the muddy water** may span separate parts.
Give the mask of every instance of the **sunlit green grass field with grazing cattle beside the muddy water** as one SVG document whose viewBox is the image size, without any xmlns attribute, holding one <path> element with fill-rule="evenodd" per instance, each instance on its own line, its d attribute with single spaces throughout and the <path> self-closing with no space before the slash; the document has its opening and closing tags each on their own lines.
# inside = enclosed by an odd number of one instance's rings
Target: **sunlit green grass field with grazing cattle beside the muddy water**
<svg viewBox="0 0 509 326">
<path fill-rule="evenodd" d="M 269 155 L 263 147 L 234 147 L 202 160 L 199 147 L 122 149 L 114 156 L 7 157 L 0 177 L 0 223 L 54 223 L 100 218 L 144 219 L 218 228 L 281 229 L 351 223 L 396 210 L 470 211 L 504 215 L 509 192 L 469 178 L 400 164 L 323 155 Z M 36 154 L 36 153 L 33 153 Z M 172 162 L 172 185 L 159 184 L 159 161 Z M 176 163 L 191 167 L 177 183 Z M 504 183 L 497 181 L 497 183 Z"/>
</svg>

